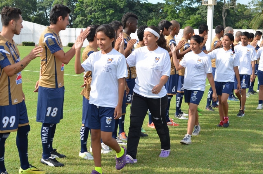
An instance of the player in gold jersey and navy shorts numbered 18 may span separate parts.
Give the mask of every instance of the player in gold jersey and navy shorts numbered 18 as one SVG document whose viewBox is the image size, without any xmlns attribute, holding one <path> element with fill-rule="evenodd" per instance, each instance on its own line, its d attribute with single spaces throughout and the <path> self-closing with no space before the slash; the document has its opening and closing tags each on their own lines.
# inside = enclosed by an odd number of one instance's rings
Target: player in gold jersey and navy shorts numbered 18
<svg viewBox="0 0 263 174">
<path fill-rule="evenodd" d="M 65 158 L 53 149 L 52 143 L 55 135 L 56 124 L 63 119 L 64 103 L 64 64 L 75 55 L 75 46 L 64 53 L 59 32 L 65 30 L 69 24 L 70 9 L 64 5 L 56 4 L 50 11 L 50 25 L 39 38 L 39 45 L 45 51 L 41 56 L 40 78 L 38 83 L 37 122 L 42 123 L 41 140 L 43 154 L 41 163 L 48 166 L 64 166 L 56 158 Z M 89 34 L 86 29 L 80 34 L 84 40 Z"/>
</svg>

